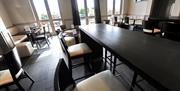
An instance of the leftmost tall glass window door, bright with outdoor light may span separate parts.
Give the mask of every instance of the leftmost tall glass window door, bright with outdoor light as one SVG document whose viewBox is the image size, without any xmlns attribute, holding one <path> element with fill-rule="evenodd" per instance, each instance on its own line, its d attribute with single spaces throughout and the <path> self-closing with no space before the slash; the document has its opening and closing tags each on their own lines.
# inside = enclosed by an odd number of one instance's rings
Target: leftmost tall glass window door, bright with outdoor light
<svg viewBox="0 0 180 91">
<path fill-rule="evenodd" d="M 40 26 L 46 26 L 50 32 L 55 31 L 62 24 L 57 0 L 32 0 L 36 20 Z"/>
</svg>

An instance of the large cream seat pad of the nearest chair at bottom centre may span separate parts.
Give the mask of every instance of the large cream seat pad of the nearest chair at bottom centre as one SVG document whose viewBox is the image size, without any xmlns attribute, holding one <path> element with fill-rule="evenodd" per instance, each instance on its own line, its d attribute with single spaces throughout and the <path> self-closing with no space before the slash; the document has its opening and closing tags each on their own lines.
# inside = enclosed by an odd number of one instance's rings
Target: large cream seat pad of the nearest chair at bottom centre
<svg viewBox="0 0 180 91">
<path fill-rule="evenodd" d="M 123 84 L 107 70 L 98 73 L 76 85 L 74 91 L 128 91 Z"/>
</svg>

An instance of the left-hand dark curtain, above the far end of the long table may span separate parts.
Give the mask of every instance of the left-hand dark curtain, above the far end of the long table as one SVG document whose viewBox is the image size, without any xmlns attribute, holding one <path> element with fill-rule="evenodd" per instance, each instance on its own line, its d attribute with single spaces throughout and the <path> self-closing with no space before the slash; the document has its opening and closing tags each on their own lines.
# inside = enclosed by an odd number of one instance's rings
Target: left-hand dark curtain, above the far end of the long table
<svg viewBox="0 0 180 91">
<path fill-rule="evenodd" d="M 72 6 L 72 15 L 73 15 L 74 26 L 81 25 L 77 0 L 71 0 L 71 6 Z"/>
</svg>

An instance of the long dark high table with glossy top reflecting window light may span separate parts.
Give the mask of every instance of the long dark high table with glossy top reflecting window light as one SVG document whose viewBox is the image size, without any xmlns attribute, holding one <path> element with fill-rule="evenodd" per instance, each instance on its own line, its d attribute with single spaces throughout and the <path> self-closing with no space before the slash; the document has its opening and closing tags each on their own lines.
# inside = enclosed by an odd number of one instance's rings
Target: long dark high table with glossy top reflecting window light
<svg viewBox="0 0 180 91">
<path fill-rule="evenodd" d="M 105 24 L 80 30 L 96 56 L 105 47 L 157 89 L 180 91 L 180 43 Z"/>
</svg>

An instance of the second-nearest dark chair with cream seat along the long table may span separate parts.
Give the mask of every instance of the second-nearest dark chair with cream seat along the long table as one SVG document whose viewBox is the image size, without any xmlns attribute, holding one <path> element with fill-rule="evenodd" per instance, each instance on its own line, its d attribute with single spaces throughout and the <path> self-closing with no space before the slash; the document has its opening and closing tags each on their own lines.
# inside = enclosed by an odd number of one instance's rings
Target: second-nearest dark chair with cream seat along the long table
<svg viewBox="0 0 180 91">
<path fill-rule="evenodd" d="M 90 47 L 87 44 L 78 43 L 75 45 L 67 46 L 63 36 L 61 35 L 61 36 L 59 36 L 59 38 L 60 38 L 61 48 L 65 54 L 65 58 L 67 59 L 68 67 L 71 72 L 72 72 L 73 68 L 79 67 L 84 64 L 86 64 L 87 67 L 90 68 L 89 61 L 90 61 L 90 56 L 91 56 L 92 50 L 90 49 Z M 78 60 L 76 60 L 76 62 L 78 64 L 73 64 L 72 60 L 76 59 L 76 58 L 84 58 L 84 62 L 83 63 L 77 62 Z M 79 78 L 77 78 L 77 79 L 79 79 Z"/>
</svg>

